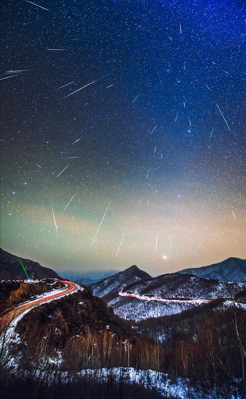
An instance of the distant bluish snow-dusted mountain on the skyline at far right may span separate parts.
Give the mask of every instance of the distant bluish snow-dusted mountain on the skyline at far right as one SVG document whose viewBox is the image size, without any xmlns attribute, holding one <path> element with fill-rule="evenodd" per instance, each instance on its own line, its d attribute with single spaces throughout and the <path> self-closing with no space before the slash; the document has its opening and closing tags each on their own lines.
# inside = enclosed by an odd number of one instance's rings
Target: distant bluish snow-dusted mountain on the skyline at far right
<svg viewBox="0 0 246 399">
<path fill-rule="evenodd" d="M 246 281 L 246 260 L 228 258 L 213 265 L 184 269 L 178 273 L 192 274 L 203 279 L 217 279 L 221 281 Z"/>
</svg>

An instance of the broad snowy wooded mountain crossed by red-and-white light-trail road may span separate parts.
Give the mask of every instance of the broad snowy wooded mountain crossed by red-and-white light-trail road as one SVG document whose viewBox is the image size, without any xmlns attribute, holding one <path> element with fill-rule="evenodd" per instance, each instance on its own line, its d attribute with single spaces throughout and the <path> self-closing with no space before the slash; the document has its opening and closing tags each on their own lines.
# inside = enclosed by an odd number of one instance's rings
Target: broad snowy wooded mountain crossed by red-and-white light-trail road
<svg viewBox="0 0 246 399">
<path fill-rule="evenodd" d="M 138 279 L 125 287 L 124 284 L 118 284 L 117 287 L 117 292 L 110 294 L 110 286 L 107 286 L 107 289 L 101 290 L 99 294 L 104 294 L 104 300 L 118 316 L 138 322 L 151 317 L 181 313 L 194 306 L 203 306 L 206 303 L 204 300 L 232 298 L 244 290 L 246 284 L 171 273 L 155 278 Z M 120 295 L 119 288 L 123 288 Z M 158 298 L 167 300 L 160 301 Z"/>
</svg>

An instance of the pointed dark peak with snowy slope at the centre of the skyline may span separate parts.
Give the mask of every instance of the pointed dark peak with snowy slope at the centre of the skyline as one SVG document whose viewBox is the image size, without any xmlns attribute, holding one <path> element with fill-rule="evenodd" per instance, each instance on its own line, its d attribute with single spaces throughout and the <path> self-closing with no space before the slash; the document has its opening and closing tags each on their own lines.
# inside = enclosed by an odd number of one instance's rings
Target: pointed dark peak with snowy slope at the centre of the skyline
<svg viewBox="0 0 246 399">
<path fill-rule="evenodd" d="M 140 270 L 136 265 L 133 265 L 122 272 L 116 273 L 113 276 L 92 284 L 90 287 L 92 288 L 94 295 L 102 297 L 108 294 L 118 294 L 118 292 L 126 285 L 139 280 L 148 280 L 151 278 L 152 277 L 148 273 Z"/>
</svg>

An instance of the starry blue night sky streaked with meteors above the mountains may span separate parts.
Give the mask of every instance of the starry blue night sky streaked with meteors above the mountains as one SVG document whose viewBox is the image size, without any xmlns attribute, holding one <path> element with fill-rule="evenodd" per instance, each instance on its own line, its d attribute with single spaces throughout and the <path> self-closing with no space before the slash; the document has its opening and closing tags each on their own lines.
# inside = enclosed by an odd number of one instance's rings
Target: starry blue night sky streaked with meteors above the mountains
<svg viewBox="0 0 246 399">
<path fill-rule="evenodd" d="M 34 2 L 2 12 L 1 246 L 152 275 L 245 258 L 243 2 Z"/>
</svg>

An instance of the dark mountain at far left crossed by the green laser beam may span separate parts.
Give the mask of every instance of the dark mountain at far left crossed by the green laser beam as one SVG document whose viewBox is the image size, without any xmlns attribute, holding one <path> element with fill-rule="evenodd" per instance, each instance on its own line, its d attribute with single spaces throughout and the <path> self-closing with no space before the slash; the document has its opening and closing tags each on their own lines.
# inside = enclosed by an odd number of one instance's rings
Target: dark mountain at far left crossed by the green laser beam
<svg viewBox="0 0 246 399">
<path fill-rule="evenodd" d="M 48 267 L 41 266 L 38 262 L 20 258 L 30 279 L 60 279 L 60 276 Z M 26 280 L 27 275 L 16 255 L 0 248 L 0 280 Z"/>
</svg>

